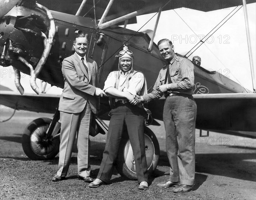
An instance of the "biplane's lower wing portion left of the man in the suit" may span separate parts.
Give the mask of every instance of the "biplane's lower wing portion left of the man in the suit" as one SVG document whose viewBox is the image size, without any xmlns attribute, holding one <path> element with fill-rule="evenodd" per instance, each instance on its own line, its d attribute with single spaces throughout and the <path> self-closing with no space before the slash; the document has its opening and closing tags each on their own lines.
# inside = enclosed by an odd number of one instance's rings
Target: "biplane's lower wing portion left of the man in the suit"
<svg viewBox="0 0 256 200">
<path fill-rule="evenodd" d="M 52 94 L 23 94 L 13 91 L 0 91 L 0 104 L 17 110 L 28 110 L 37 113 L 55 113 L 60 95 Z"/>
</svg>

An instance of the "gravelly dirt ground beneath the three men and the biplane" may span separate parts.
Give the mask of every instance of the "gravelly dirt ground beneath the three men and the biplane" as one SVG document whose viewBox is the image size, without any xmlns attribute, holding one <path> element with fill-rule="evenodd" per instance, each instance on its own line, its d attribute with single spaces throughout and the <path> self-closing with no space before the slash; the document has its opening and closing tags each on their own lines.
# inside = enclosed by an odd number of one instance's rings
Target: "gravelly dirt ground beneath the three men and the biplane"
<svg viewBox="0 0 256 200">
<path fill-rule="evenodd" d="M 11 115 L 1 110 L 1 120 Z M 195 191 L 177 194 L 174 188 L 160 189 L 156 184 L 168 180 L 169 163 L 165 150 L 163 125 L 150 126 L 160 144 L 160 161 L 150 176 L 149 189 L 138 190 L 137 181 L 121 177 L 114 171 L 111 184 L 89 188 L 77 179 L 77 154 L 73 153 L 67 180 L 52 182 L 58 168 L 58 155 L 53 160 L 31 161 L 21 146 L 22 132 L 35 118 L 49 114 L 16 112 L 0 124 L 0 199 L 55 200 L 255 200 L 256 199 L 256 140 L 210 132 L 200 138 L 196 132 Z M 160 122 L 162 124 L 162 122 Z M 93 178 L 99 172 L 105 135 L 91 138 L 90 155 Z"/>
</svg>

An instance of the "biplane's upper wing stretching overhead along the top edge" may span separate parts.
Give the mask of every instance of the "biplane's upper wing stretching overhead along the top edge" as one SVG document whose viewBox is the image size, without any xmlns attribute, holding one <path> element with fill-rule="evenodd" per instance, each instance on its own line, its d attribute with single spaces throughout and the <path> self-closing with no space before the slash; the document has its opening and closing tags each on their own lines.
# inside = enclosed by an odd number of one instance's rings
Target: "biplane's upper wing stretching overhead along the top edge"
<svg viewBox="0 0 256 200">
<path fill-rule="evenodd" d="M 246 1 L 246 3 L 255 2 L 256 0 Z M 50 0 L 45 2 L 42 1 L 40 3 L 50 10 L 68 14 L 76 14 L 82 0 L 65 0 L 65 3 Z M 95 15 L 93 3 L 95 3 Z M 109 0 L 87 0 L 80 16 L 90 17 L 93 19 L 96 16 L 96 20 L 99 20 L 104 11 L 107 9 L 108 15 L 106 20 L 108 21 L 134 11 L 142 11 L 142 14 L 148 14 L 159 11 L 159 8 L 163 8 L 163 11 L 176 8 L 190 8 L 207 12 L 243 4 L 242 0 L 114 0 L 111 8 L 109 8 L 108 3 Z M 135 23 L 135 20 L 133 19 L 133 22 L 130 21 L 130 23 Z"/>
</svg>

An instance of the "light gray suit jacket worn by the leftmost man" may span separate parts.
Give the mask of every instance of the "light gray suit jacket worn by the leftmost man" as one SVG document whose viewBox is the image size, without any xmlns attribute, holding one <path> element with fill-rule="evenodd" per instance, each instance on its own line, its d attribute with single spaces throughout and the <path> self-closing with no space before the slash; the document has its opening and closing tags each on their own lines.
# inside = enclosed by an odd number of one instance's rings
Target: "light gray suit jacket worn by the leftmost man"
<svg viewBox="0 0 256 200">
<path fill-rule="evenodd" d="M 87 58 L 87 68 L 84 68 L 79 56 L 73 54 L 62 62 L 64 89 L 59 102 L 59 111 L 66 113 L 81 113 L 89 101 L 93 113 L 99 109 L 99 98 L 94 96 L 99 83 L 98 67 L 94 60 Z"/>
</svg>

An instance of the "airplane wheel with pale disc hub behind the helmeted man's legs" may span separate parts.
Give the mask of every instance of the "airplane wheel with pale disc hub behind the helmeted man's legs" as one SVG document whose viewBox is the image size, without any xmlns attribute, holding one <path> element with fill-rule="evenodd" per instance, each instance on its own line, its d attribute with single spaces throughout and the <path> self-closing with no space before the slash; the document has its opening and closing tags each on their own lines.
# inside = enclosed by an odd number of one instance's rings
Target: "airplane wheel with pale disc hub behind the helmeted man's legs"
<svg viewBox="0 0 256 200">
<path fill-rule="evenodd" d="M 148 127 L 144 127 L 144 137 L 148 174 L 151 174 L 157 168 L 160 148 L 157 137 Z M 129 138 L 122 139 L 120 143 L 116 169 L 120 175 L 124 175 L 131 180 L 137 180 L 134 155 Z"/>
</svg>

